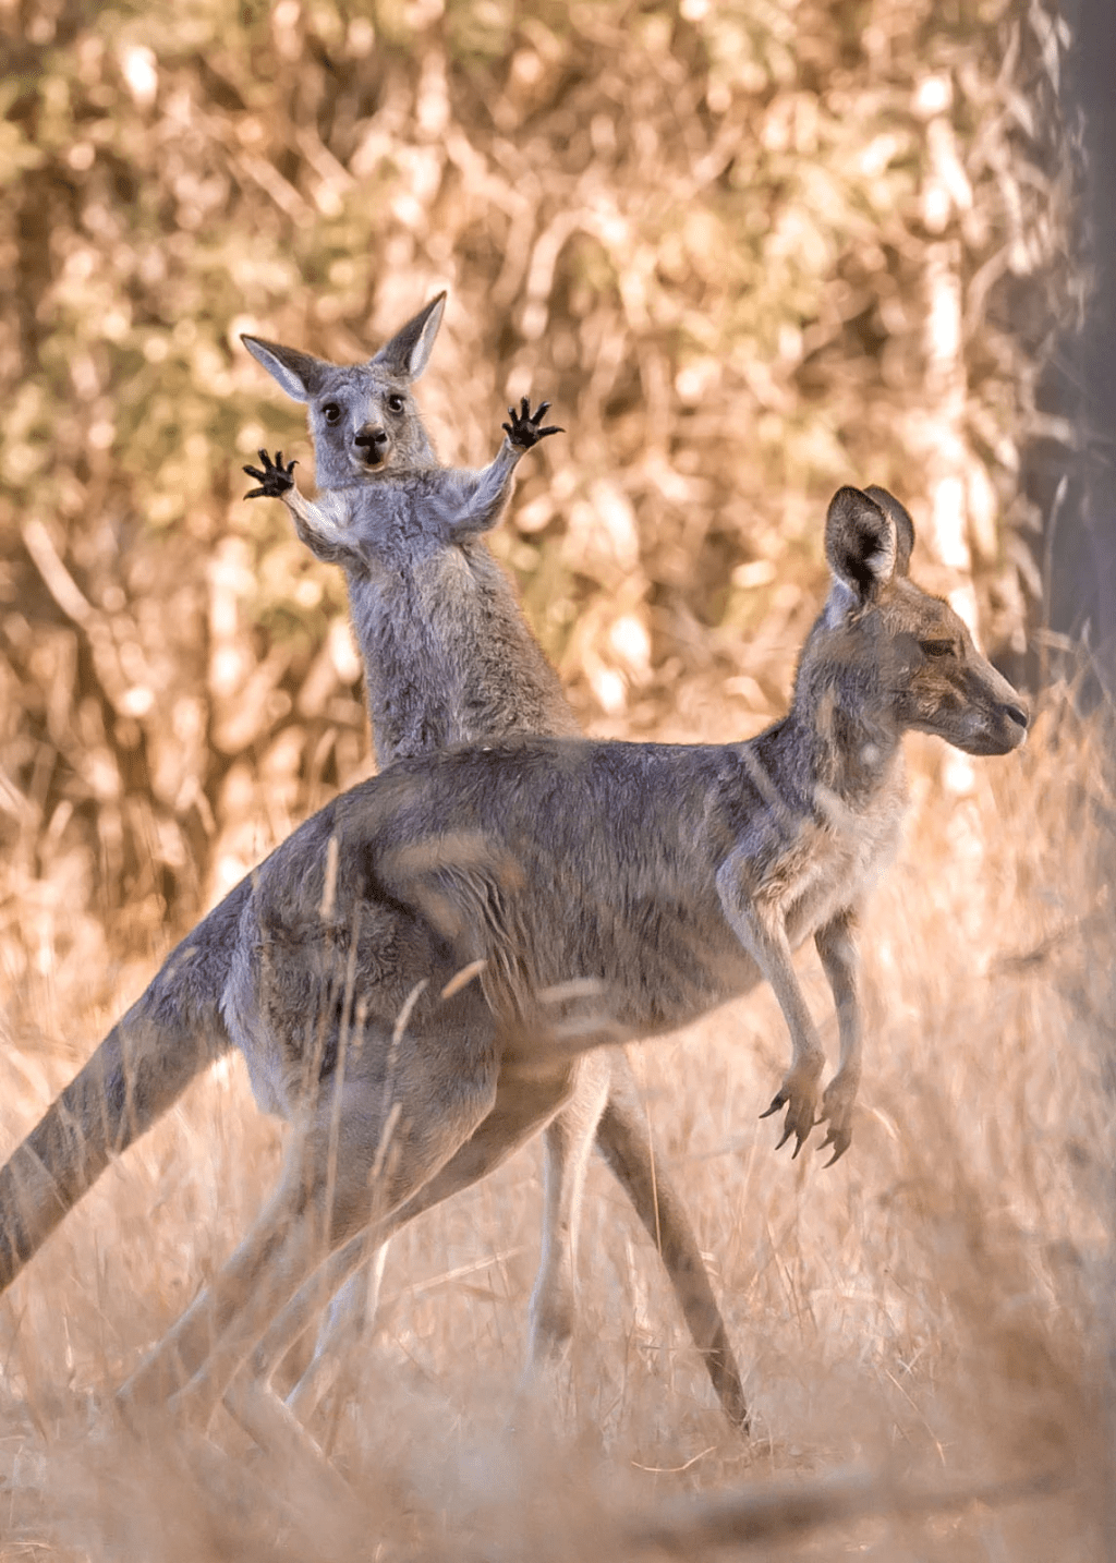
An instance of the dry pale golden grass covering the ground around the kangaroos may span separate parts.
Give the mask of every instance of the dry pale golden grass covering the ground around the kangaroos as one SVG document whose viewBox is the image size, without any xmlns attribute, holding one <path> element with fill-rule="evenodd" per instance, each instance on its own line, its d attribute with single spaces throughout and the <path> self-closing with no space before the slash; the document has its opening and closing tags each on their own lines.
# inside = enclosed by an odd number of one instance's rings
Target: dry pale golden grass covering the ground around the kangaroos
<svg viewBox="0 0 1116 1563">
<path fill-rule="evenodd" d="M 680 1552 L 713 1555 L 713 1516 L 694 1532 L 689 1508 L 663 1505 L 741 1490 L 767 1508 L 747 1525 L 733 1511 L 738 1536 L 802 1519 L 797 1540 L 758 1543 L 780 1557 L 1100 1557 L 1116 1013 L 1103 738 L 1050 697 L 1019 756 L 969 766 L 916 746 L 911 828 L 864 932 L 863 1114 L 833 1171 L 775 1155 L 757 1121 L 786 1049 L 771 996 L 639 1053 L 749 1369 L 750 1443 L 721 1421 L 600 1168 L 569 1425 L 552 1438 L 545 1415 L 514 1410 L 538 1247 L 530 1155 L 395 1243 L 356 1385 L 314 1422 L 352 1483 L 344 1511 L 228 1419 L 205 1449 L 170 1430 L 166 1446 L 125 1441 L 113 1388 L 275 1171 L 277 1132 L 233 1069 L 100 1182 L 2 1305 L 3 1563 L 636 1557 L 671 1540 L 653 1516 L 681 1525 Z M 800 967 L 828 1016 L 816 963 Z M 8 1143 L 70 1069 L 34 1033 L 97 1032 L 128 993 L 102 997 L 77 980 L 9 997 Z M 936 1511 L 1032 1477 L 1053 1490 Z"/>
</svg>

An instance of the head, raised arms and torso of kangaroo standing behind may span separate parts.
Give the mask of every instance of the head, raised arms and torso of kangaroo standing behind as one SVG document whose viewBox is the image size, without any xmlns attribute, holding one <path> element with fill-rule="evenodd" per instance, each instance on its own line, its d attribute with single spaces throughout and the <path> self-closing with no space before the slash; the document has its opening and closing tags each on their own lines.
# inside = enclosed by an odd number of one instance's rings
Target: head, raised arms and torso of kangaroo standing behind
<svg viewBox="0 0 1116 1563">
<path fill-rule="evenodd" d="M 242 338 L 308 405 L 317 500 L 303 499 L 264 452 L 255 492 L 280 497 L 306 547 L 345 570 L 381 766 L 489 733 L 578 730 L 483 539 L 508 505 L 519 458 L 558 430 L 513 411 L 481 472 L 438 464 L 411 388 L 444 300 L 433 299 L 366 364 L 339 367 Z"/>
</svg>

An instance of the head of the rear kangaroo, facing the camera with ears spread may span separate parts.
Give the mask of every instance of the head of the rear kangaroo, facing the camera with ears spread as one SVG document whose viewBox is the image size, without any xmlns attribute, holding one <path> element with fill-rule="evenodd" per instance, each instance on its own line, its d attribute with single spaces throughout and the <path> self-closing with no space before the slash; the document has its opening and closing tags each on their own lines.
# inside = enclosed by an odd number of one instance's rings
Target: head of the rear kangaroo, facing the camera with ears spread
<svg viewBox="0 0 1116 1563">
<path fill-rule="evenodd" d="M 286 394 L 308 405 L 319 488 L 438 464 L 411 386 L 427 367 L 444 309 L 441 292 L 364 364 L 331 364 L 280 342 L 241 338 Z"/>
</svg>

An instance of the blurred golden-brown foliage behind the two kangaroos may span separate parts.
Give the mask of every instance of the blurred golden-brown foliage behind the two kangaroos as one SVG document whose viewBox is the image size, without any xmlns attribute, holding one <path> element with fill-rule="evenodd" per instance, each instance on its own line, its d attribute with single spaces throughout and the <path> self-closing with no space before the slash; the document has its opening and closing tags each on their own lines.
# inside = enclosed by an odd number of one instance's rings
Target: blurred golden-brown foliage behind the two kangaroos
<svg viewBox="0 0 1116 1563">
<path fill-rule="evenodd" d="M 1047 0 L 0 0 L 0 957 L 150 958 L 366 774 L 344 583 L 242 350 L 356 359 L 438 288 L 442 460 L 567 428 L 494 547 L 586 722 L 755 730 L 885 483 L 1025 675 L 1021 481 L 1077 309 Z M 53 980 L 53 978 L 52 978 Z"/>
</svg>

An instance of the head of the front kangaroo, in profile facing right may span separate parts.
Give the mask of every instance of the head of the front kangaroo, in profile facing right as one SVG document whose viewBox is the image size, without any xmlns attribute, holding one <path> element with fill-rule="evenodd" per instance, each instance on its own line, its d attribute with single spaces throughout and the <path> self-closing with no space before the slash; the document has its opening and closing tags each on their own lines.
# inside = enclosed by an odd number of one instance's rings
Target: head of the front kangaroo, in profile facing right
<svg viewBox="0 0 1116 1563">
<path fill-rule="evenodd" d="M 1027 710 L 941 597 L 908 575 L 914 525 L 886 489 L 842 488 L 825 517 L 833 586 L 803 647 L 796 706 L 899 736 L 935 733 L 969 755 L 1007 755 Z"/>
</svg>

